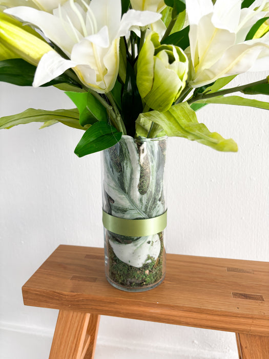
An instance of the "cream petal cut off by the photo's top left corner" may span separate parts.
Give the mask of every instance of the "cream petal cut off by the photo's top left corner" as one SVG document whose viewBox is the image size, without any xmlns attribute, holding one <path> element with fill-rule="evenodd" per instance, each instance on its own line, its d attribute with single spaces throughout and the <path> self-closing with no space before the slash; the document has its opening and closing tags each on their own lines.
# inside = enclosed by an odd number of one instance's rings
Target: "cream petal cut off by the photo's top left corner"
<svg viewBox="0 0 269 359">
<path fill-rule="evenodd" d="M 59 5 L 63 5 L 68 0 L 0 0 L 0 5 L 8 8 L 14 6 L 28 6 L 42 11 L 52 12 Z"/>
</svg>

